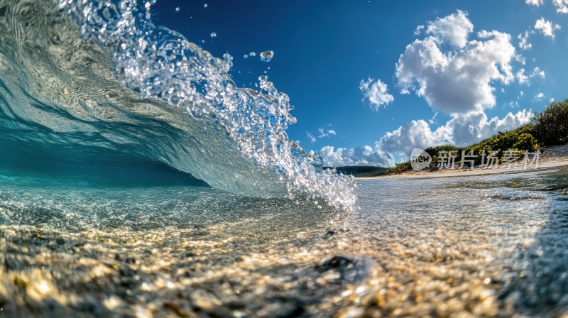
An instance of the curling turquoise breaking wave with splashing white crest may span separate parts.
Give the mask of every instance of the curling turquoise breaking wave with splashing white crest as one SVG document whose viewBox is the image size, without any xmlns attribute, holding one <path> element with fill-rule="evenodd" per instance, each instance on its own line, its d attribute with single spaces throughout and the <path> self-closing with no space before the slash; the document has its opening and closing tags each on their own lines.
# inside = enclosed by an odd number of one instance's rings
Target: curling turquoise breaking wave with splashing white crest
<svg viewBox="0 0 568 318">
<path fill-rule="evenodd" d="M 116 160 L 155 160 L 254 197 L 355 204 L 351 177 L 288 139 L 288 95 L 260 91 L 151 21 L 154 1 L 0 0 L 0 133 Z"/>
</svg>

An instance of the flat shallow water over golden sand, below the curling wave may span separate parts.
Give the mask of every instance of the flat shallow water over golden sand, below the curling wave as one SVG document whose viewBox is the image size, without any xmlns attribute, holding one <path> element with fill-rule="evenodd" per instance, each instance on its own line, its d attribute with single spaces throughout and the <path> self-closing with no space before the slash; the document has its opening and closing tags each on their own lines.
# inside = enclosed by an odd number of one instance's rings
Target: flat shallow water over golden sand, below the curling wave
<svg viewBox="0 0 568 318">
<path fill-rule="evenodd" d="M 365 181 L 353 213 L 51 180 L 2 177 L 8 317 L 568 312 L 567 168 Z"/>
</svg>

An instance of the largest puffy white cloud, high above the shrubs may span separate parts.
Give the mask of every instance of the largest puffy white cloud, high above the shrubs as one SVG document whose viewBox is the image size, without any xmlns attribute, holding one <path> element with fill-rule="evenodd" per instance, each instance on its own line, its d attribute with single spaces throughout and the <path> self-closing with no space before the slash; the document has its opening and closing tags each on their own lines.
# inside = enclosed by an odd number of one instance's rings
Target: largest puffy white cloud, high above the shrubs
<svg viewBox="0 0 568 318">
<path fill-rule="evenodd" d="M 422 40 L 406 47 L 396 65 L 401 93 L 413 90 L 430 106 L 447 114 L 480 113 L 496 104 L 494 82 L 509 84 L 515 76 L 510 65 L 515 48 L 510 35 L 498 31 L 477 33 L 468 40 L 473 25 L 458 11 L 430 22 Z M 443 52 L 440 43 L 454 45 Z"/>
</svg>

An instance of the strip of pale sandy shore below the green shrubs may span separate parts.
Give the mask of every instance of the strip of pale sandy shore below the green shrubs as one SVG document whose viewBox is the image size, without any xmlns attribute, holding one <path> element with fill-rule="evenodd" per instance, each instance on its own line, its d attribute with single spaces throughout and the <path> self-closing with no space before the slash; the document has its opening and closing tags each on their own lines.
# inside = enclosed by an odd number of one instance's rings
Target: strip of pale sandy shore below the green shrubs
<svg viewBox="0 0 568 318">
<path fill-rule="evenodd" d="M 523 168 L 523 165 L 498 165 L 494 168 L 474 168 L 474 169 L 444 169 L 436 171 L 408 171 L 398 175 L 380 175 L 377 177 L 358 177 L 357 180 L 375 180 L 383 178 L 431 178 L 431 177 L 466 177 L 470 175 L 493 175 L 499 173 L 523 172 L 540 168 L 555 168 L 568 165 L 568 145 L 552 146 L 541 149 L 538 167 L 532 165 L 530 168 Z"/>
</svg>

